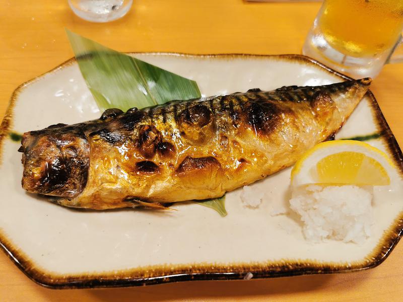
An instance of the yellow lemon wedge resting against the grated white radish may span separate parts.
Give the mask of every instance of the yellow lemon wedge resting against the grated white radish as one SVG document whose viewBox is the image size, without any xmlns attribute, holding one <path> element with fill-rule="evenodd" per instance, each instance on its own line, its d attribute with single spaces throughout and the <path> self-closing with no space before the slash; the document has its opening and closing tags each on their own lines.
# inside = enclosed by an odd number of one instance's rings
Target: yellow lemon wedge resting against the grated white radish
<svg viewBox="0 0 403 302">
<path fill-rule="evenodd" d="M 308 150 L 291 171 L 291 184 L 390 184 L 394 164 L 381 150 L 361 141 L 332 140 Z"/>
</svg>

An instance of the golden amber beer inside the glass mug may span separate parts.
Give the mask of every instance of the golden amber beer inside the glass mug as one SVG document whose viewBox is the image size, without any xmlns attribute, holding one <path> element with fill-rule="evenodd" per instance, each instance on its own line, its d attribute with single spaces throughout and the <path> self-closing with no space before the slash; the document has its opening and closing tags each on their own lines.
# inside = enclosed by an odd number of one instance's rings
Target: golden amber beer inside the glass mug
<svg viewBox="0 0 403 302">
<path fill-rule="evenodd" d="M 403 28 L 403 0 L 326 0 L 317 26 L 334 49 L 376 56 L 396 43 Z"/>
</svg>

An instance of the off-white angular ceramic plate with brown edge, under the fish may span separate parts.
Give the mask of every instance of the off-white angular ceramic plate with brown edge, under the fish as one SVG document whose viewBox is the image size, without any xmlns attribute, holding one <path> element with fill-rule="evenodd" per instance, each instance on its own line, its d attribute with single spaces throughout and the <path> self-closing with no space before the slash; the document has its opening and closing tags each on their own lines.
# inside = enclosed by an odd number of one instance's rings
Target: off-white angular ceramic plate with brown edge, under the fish
<svg viewBox="0 0 403 302">
<path fill-rule="evenodd" d="M 195 80 L 204 96 L 325 85 L 341 74 L 299 55 L 135 54 Z M 0 241 L 24 273 L 50 287 L 131 286 L 201 279 L 262 278 L 353 271 L 381 263 L 399 240 L 403 202 L 375 192 L 373 236 L 362 245 L 307 242 L 287 205 L 290 169 L 254 183 L 265 198 L 245 208 L 240 190 L 227 194 L 228 215 L 194 204 L 177 211 L 81 211 L 47 202 L 21 188 L 19 143 L 25 132 L 95 119 L 100 112 L 77 62 L 69 60 L 14 92 L 1 126 Z M 368 142 L 402 170 L 402 155 L 376 100 L 368 93 L 337 138 L 379 133 Z"/>
</svg>

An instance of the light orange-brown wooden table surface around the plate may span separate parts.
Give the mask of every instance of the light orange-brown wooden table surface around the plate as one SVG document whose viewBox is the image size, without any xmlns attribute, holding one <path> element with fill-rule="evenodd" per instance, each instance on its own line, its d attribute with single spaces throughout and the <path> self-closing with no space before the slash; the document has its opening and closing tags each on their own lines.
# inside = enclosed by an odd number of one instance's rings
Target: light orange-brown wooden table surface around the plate
<svg viewBox="0 0 403 302">
<path fill-rule="evenodd" d="M 300 53 L 320 6 L 241 0 L 133 2 L 123 19 L 95 24 L 76 17 L 66 0 L 1 1 L 0 117 L 19 84 L 73 56 L 64 28 L 119 51 Z M 371 89 L 401 145 L 403 64 L 385 66 Z M 402 278 L 403 244 L 379 267 L 356 273 L 81 290 L 41 287 L 0 253 L 0 301 L 390 301 L 401 300 Z"/>
</svg>

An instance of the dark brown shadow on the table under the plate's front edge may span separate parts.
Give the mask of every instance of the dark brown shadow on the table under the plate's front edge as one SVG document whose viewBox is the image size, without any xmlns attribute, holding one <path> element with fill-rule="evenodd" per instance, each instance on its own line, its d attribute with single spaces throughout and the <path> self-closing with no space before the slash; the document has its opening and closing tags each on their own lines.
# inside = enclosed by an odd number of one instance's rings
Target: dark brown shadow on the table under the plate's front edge
<svg viewBox="0 0 403 302">
<path fill-rule="evenodd" d="M 359 273 L 360 278 L 349 279 L 349 288 L 364 281 L 365 272 Z M 352 274 L 349 274 L 352 276 Z M 339 277 L 338 277 L 339 276 Z M 88 295 L 99 301 L 165 301 L 165 300 L 192 300 L 192 299 L 220 299 L 241 298 L 242 296 L 270 296 L 279 294 L 302 293 L 332 285 L 343 290 L 340 275 L 308 275 L 297 277 L 283 277 L 274 279 L 260 279 L 250 281 L 190 281 L 170 283 L 145 287 L 88 289 Z"/>
</svg>

